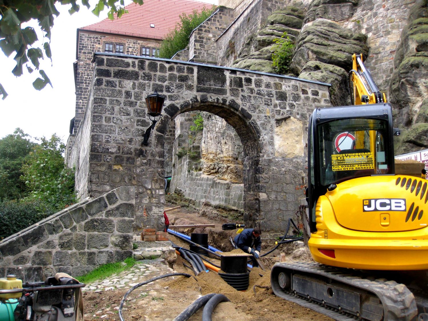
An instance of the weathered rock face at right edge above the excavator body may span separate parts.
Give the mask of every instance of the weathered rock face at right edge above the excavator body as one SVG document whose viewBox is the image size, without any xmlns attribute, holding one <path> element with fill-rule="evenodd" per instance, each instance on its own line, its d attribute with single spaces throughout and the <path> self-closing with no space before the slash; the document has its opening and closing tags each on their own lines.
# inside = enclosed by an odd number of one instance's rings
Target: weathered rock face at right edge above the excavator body
<svg viewBox="0 0 428 321">
<path fill-rule="evenodd" d="M 428 8 L 419 0 L 395 53 L 390 99 L 395 126 L 402 128 L 396 154 L 428 148 Z"/>
</svg>

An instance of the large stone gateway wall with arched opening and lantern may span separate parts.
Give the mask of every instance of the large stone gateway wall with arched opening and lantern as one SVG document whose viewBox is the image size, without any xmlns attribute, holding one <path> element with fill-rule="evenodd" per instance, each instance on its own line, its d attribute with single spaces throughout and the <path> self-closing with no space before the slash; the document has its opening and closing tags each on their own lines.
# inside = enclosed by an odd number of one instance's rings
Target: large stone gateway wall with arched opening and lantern
<svg viewBox="0 0 428 321">
<path fill-rule="evenodd" d="M 306 175 L 307 121 L 330 106 L 328 85 L 287 76 L 169 59 L 95 53 L 86 114 L 69 143 L 80 197 L 136 187 L 134 229 L 162 229 L 164 138 L 169 122 L 188 111 L 225 119 L 244 150 L 244 220 L 282 232 L 300 204 Z M 163 117 L 151 125 L 147 95 L 165 97 Z M 144 208 L 146 211 L 144 211 Z"/>
</svg>

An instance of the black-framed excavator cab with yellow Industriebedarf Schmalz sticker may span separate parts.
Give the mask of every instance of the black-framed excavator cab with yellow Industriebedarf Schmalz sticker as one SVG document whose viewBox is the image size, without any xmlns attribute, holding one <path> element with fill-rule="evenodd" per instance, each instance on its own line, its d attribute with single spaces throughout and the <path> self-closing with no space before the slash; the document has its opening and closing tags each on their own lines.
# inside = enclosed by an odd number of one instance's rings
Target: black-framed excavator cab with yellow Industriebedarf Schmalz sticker
<svg viewBox="0 0 428 321">
<path fill-rule="evenodd" d="M 311 232 L 315 204 L 337 184 L 358 177 L 394 173 L 392 110 L 389 104 L 315 109 L 309 121 Z"/>
</svg>

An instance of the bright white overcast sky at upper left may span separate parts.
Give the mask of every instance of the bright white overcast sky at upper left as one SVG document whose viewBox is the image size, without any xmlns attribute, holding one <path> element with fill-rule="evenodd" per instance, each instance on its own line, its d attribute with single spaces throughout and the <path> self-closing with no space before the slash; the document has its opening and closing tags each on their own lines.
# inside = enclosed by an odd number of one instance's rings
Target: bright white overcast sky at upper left
<svg viewBox="0 0 428 321">
<path fill-rule="evenodd" d="M 218 0 L 199 1 L 218 4 Z M 94 1 L 89 2 L 92 9 L 95 6 Z M 7 58 L 0 51 L 0 83 L 9 94 L 5 100 L 0 98 L 0 138 L 12 134 L 18 127 L 32 137 L 51 137 L 56 133 L 64 143 L 68 138 L 76 99 L 73 74 L 73 62 L 76 61 L 76 29 L 106 18 L 107 9 L 98 18 L 85 6 L 81 6 L 80 11 L 73 15 L 67 12 L 69 5 L 61 6 L 57 3 L 56 8 L 60 14 L 54 19 L 52 29 L 52 62 L 45 57 L 40 66 L 51 79 L 53 88 L 49 85 L 41 91 L 33 88 L 33 81 L 40 77 L 37 70 L 28 74 L 24 67 L 24 75 L 15 77 L 11 72 L 15 67 L 14 54 Z M 38 33 L 41 43 L 45 42 L 37 23 L 30 25 Z M 42 48 L 42 45 L 38 46 Z"/>
</svg>

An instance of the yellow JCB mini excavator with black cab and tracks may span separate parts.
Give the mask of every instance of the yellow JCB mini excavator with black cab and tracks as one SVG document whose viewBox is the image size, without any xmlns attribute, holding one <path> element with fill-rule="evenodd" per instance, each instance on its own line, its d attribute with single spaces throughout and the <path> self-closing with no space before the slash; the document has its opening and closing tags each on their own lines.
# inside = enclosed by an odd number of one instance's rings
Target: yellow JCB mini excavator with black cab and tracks
<svg viewBox="0 0 428 321">
<path fill-rule="evenodd" d="M 391 105 L 353 62 L 354 105 L 309 119 L 303 223 L 317 263 L 276 263 L 272 289 L 336 320 L 428 320 L 428 181 L 395 174 Z"/>
</svg>

